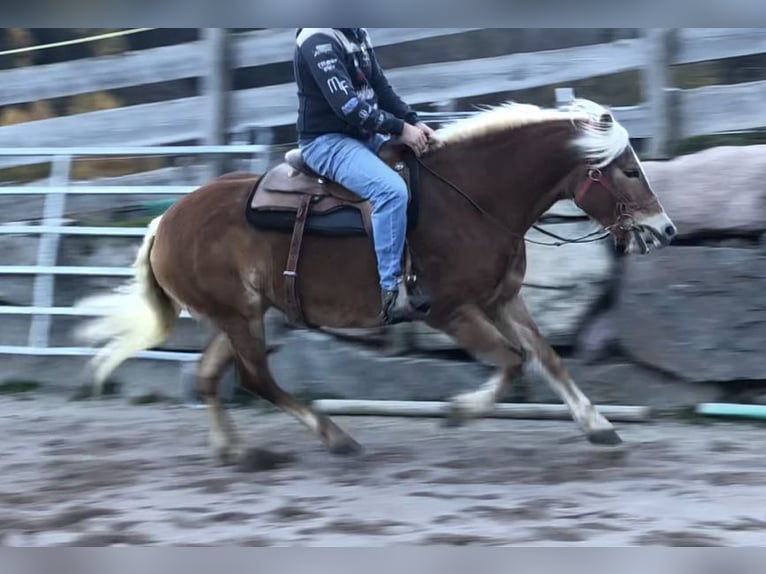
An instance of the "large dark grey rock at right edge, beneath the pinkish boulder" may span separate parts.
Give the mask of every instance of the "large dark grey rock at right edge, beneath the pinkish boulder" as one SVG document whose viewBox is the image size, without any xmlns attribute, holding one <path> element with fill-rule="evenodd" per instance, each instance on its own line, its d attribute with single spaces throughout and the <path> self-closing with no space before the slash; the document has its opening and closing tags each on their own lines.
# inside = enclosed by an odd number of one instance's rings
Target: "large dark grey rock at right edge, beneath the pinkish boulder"
<svg viewBox="0 0 766 574">
<path fill-rule="evenodd" d="M 766 377 L 766 255 L 669 247 L 628 258 L 617 336 L 635 359 L 694 381 Z"/>
</svg>

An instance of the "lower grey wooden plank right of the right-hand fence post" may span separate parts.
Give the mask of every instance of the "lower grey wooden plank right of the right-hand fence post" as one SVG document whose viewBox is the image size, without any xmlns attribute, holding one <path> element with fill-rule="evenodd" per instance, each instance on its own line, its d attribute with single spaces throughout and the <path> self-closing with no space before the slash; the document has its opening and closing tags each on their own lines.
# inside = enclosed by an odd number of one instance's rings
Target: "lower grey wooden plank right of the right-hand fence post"
<svg viewBox="0 0 766 574">
<path fill-rule="evenodd" d="M 683 137 L 766 127 L 766 81 L 683 90 Z"/>
</svg>

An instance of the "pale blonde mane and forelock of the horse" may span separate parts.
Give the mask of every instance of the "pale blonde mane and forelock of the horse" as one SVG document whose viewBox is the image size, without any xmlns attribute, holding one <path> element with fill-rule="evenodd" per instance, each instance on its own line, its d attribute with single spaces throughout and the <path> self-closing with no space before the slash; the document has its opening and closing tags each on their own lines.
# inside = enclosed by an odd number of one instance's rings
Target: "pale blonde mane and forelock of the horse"
<svg viewBox="0 0 766 574">
<path fill-rule="evenodd" d="M 604 114 L 608 114 L 611 121 L 602 121 Z M 439 149 L 496 132 L 561 120 L 571 121 L 578 128 L 572 144 L 584 159 L 596 167 L 610 163 L 630 143 L 627 130 L 607 108 L 580 98 L 556 109 L 515 102 L 486 107 L 473 116 L 451 122 L 439 129 L 436 132 L 437 143 L 432 147 Z"/>
</svg>

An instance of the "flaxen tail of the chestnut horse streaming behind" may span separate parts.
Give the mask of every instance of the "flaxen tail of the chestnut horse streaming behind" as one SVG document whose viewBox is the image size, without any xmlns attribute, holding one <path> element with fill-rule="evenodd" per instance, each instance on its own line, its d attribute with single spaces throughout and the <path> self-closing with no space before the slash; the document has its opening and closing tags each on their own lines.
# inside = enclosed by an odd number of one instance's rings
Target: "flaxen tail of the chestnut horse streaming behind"
<svg viewBox="0 0 766 574">
<path fill-rule="evenodd" d="M 88 344 L 103 343 L 91 360 L 98 394 L 107 377 L 123 361 L 164 341 L 181 312 L 157 283 L 149 262 L 160 219 L 161 216 L 149 224 L 133 262 L 132 281 L 112 292 L 81 299 L 75 305 L 98 313 L 75 332 L 78 339 Z"/>
</svg>

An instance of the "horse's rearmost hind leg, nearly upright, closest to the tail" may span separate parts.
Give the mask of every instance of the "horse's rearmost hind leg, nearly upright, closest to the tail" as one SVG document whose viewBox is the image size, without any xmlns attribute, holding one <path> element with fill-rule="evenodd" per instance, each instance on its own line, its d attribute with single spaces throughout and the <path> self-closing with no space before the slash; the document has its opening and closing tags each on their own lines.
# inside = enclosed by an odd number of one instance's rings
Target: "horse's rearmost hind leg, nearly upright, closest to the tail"
<svg viewBox="0 0 766 574">
<path fill-rule="evenodd" d="M 234 349 L 229 337 L 225 333 L 218 333 L 205 347 L 197 363 L 197 392 L 207 405 L 210 447 L 213 456 L 223 464 L 234 464 L 241 455 L 234 424 L 218 393 L 221 377 L 234 359 Z"/>
</svg>

